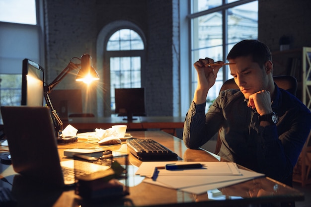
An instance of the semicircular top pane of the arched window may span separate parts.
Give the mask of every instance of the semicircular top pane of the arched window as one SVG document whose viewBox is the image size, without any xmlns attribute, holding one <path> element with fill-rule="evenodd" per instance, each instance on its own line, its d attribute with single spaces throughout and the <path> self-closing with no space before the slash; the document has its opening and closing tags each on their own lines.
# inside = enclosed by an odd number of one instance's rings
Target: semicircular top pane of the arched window
<svg viewBox="0 0 311 207">
<path fill-rule="evenodd" d="M 143 50 L 144 43 L 137 32 L 131 29 L 120 29 L 115 32 L 107 43 L 107 51 Z"/>
</svg>

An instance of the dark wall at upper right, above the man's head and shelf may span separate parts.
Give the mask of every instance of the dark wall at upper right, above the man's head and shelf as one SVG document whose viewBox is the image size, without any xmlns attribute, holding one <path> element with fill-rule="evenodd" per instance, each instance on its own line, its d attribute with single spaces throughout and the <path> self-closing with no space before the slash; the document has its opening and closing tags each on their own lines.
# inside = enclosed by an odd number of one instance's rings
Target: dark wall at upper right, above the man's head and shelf
<svg viewBox="0 0 311 207">
<path fill-rule="evenodd" d="M 258 9 L 258 39 L 271 51 L 283 35 L 292 38 L 291 49 L 311 46 L 310 0 L 259 0 Z"/>
</svg>

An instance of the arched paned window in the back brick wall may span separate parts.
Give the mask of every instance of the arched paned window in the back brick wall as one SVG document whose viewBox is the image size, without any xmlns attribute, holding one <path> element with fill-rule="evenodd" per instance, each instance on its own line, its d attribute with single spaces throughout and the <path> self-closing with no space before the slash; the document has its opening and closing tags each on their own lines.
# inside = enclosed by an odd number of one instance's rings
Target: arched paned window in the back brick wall
<svg viewBox="0 0 311 207">
<path fill-rule="evenodd" d="M 110 106 L 115 110 L 115 88 L 140 88 L 144 42 L 132 29 L 114 32 L 107 43 L 106 60 L 110 68 Z"/>
</svg>

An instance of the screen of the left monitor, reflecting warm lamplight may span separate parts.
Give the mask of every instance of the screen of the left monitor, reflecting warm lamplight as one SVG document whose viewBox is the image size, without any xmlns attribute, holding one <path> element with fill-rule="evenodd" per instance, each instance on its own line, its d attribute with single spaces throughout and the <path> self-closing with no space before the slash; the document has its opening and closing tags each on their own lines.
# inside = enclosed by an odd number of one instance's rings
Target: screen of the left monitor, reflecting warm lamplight
<svg viewBox="0 0 311 207">
<path fill-rule="evenodd" d="M 44 69 L 28 59 L 23 60 L 21 105 L 43 106 Z"/>
</svg>

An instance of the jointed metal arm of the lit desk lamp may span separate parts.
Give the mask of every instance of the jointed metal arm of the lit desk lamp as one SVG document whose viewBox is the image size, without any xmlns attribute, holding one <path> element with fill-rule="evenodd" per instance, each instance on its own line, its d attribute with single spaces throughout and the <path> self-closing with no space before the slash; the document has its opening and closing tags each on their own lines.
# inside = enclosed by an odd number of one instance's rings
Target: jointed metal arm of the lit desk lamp
<svg viewBox="0 0 311 207">
<path fill-rule="evenodd" d="M 63 131 L 63 122 L 61 118 L 57 115 L 52 105 L 52 101 L 50 99 L 49 94 L 51 93 L 52 89 L 63 80 L 63 78 L 69 73 L 70 70 L 78 69 L 79 65 L 80 64 L 75 64 L 73 62 L 70 62 L 67 65 L 67 67 L 49 85 L 44 86 L 44 98 L 45 98 L 47 106 L 50 107 L 51 109 L 52 120 L 54 122 L 54 128 L 55 128 L 55 136 L 57 138 L 61 135 Z"/>
</svg>

